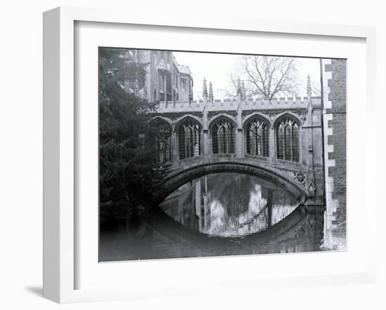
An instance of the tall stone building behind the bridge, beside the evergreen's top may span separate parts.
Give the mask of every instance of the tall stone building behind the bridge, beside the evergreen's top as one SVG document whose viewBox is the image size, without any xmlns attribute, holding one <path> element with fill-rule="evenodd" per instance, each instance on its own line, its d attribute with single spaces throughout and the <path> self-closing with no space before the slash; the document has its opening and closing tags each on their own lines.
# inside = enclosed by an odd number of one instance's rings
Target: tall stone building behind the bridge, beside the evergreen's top
<svg viewBox="0 0 386 310">
<path fill-rule="evenodd" d="M 126 81 L 126 91 L 138 93 L 151 102 L 187 102 L 193 99 L 192 72 L 189 67 L 178 64 L 173 51 L 127 50 L 125 57 L 133 62 L 147 64 L 145 79 Z"/>
</svg>

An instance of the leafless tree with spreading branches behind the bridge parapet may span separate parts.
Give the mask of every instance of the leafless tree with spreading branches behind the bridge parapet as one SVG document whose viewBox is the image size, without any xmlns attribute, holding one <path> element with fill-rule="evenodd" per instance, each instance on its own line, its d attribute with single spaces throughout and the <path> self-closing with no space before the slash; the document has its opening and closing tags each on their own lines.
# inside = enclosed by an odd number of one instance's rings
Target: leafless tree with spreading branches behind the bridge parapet
<svg viewBox="0 0 386 310">
<path fill-rule="evenodd" d="M 272 100 L 281 95 L 293 95 L 298 90 L 295 58 L 243 56 L 237 74 L 244 82 L 246 97 Z M 237 79 L 234 76 L 230 76 L 231 87 L 237 91 Z M 229 95 L 232 96 L 231 93 Z"/>
</svg>

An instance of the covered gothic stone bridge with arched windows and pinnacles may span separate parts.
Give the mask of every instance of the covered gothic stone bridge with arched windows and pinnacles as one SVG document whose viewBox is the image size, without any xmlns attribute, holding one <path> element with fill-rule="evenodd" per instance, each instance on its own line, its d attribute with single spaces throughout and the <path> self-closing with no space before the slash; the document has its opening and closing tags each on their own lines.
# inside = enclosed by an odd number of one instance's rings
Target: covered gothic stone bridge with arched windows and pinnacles
<svg viewBox="0 0 386 310">
<path fill-rule="evenodd" d="M 159 203 L 190 180 L 236 172 L 288 191 L 300 203 L 324 205 L 321 98 L 159 102 L 151 122 L 159 129 L 157 159 L 168 175 L 154 192 Z M 270 185 L 269 185 L 270 184 Z"/>
</svg>

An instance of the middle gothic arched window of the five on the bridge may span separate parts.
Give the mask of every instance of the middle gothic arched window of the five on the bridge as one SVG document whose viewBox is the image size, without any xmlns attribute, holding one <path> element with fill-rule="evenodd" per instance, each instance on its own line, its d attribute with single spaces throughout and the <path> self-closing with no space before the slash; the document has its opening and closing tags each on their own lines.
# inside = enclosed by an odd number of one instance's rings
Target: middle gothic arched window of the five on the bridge
<svg viewBox="0 0 386 310">
<path fill-rule="evenodd" d="M 234 153 L 234 124 L 227 119 L 219 119 L 211 126 L 213 154 Z"/>
</svg>

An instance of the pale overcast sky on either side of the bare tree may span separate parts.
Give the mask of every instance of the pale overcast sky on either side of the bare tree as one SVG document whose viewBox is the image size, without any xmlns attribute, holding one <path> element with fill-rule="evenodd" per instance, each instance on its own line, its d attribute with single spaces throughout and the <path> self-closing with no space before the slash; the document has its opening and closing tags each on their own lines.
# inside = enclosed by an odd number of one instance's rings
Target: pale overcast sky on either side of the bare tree
<svg viewBox="0 0 386 310">
<path fill-rule="evenodd" d="M 213 54 L 213 53 L 189 53 L 174 52 L 175 58 L 180 65 L 189 66 L 194 80 L 194 99 L 202 99 L 202 80 L 213 83 L 213 95 L 215 99 L 223 99 L 226 90 L 229 90 L 229 74 L 237 67 L 239 55 Z M 296 58 L 300 88 L 298 96 L 307 96 L 307 75 L 320 89 L 319 59 Z"/>
</svg>

